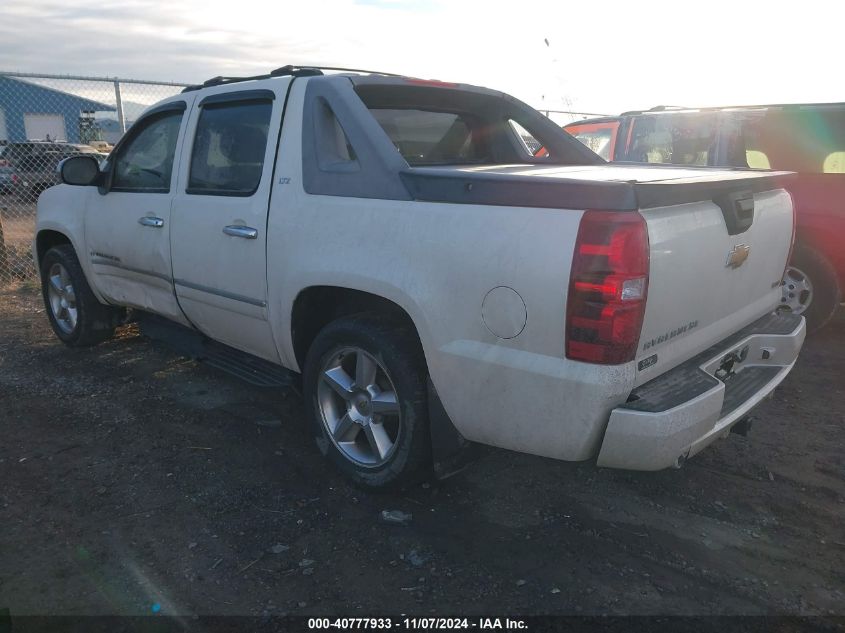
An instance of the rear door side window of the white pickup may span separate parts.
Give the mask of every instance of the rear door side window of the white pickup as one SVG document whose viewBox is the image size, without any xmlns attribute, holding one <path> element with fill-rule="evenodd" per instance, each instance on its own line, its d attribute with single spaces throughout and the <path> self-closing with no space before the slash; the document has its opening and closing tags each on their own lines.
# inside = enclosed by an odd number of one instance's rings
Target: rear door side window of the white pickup
<svg viewBox="0 0 845 633">
<path fill-rule="evenodd" d="M 187 193 L 251 196 L 261 182 L 271 101 L 241 101 L 202 107 Z"/>
</svg>

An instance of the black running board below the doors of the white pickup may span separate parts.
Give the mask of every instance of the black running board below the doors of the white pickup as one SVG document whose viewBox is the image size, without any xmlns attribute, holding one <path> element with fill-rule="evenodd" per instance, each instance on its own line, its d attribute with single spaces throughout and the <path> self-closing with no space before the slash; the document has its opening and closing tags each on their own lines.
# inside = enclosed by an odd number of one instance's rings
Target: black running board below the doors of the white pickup
<svg viewBox="0 0 845 633">
<path fill-rule="evenodd" d="M 298 376 L 281 365 L 213 341 L 184 325 L 146 313 L 138 315 L 138 325 L 144 336 L 252 385 L 291 387 L 298 383 Z"/>
</svg>

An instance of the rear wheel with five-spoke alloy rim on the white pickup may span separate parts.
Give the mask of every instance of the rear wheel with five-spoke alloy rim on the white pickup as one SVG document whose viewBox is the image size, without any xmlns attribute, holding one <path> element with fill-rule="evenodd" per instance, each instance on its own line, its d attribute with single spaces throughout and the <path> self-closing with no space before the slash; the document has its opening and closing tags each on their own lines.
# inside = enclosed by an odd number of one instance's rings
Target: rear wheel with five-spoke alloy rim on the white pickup
<svg viewBox="0 0 845 633">
<path fill-rule="evenodd" d="M 391 489 L 430 466 L 427 370 L 407 326 L 376 315 L 327 325 L 308 351 L 305 402 L 323 453 L 355 483 Z"/>
</svg>

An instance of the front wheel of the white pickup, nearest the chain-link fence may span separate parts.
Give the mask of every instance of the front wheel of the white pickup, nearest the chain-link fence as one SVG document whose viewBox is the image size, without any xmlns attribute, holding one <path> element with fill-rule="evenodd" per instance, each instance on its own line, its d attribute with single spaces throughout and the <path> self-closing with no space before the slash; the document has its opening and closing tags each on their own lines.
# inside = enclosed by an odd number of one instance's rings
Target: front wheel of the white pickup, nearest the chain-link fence
<svg viewBox="0 0 845 633">
<path fill-rule="evenodd" d="M 89 347 L 112 336 L 119 311 L 97 300 L 70 244 L 41 260 L 41 294 L 56 336 L 69 347 Z"/>
</svg>

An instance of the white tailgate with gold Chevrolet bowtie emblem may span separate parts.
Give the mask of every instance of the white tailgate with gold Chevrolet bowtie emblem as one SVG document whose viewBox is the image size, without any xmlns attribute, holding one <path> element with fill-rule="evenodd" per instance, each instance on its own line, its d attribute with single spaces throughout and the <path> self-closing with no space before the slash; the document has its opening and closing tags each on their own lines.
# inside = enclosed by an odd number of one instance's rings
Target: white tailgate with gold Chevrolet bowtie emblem
<svg viewBox="0 0 845 633">
<path fill-rule="evenodd" d="M 640 190 L 651 261 L 638 385 L 777 307 L 792 240 L 792 199 L 771 177 L 770 189 L 765 183 L 755 183 L 754 192 L 731 191 L 722 182 L 712 199 L 681 204 L 671 204 L 673 197 L 683 199 L 680 183 L 665 196 L 659 185 Z M 732 226 L 730 216 L 743 213 L 738 206 L 747 218 Z"/>
</svg>

